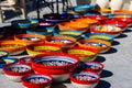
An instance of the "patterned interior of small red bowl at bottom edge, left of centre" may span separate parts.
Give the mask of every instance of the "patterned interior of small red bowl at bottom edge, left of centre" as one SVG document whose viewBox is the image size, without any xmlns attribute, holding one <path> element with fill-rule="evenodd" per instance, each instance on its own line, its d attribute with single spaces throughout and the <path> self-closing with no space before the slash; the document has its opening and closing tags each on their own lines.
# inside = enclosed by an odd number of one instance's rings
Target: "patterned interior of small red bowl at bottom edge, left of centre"
<svg viewBox="0 0 132 88">
<path fill-rule="evenodd" d="M 44 84 L 51 81 L 52 78 L 45 75 L 30 75 L 28 77 L 24 77 L 23 80 L 31 84 Z"/>
</svg>

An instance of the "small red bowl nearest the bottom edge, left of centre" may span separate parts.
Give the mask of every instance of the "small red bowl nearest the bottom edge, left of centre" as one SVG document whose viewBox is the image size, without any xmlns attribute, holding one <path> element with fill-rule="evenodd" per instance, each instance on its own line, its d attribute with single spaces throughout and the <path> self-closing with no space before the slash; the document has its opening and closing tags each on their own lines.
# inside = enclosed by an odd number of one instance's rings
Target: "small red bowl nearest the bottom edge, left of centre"
<svg viewBox="0 0 132 88">
<path fill-rule="evenodd" d="M 32 74 L 22 77 L 25 88 L 50 88 L 53 78 L 50 75 Z"/>
</svg>

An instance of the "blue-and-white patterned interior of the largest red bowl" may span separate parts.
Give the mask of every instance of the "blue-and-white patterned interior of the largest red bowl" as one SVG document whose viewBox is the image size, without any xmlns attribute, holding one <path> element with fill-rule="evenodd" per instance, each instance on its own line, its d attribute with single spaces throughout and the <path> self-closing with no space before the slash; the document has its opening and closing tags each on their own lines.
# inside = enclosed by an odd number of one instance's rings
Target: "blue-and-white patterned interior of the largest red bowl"
<svg viewBox="0 0 132 88">
<path fill-rule="evenodd" d="M 65 66 L 69 64 L 74 64 L 77 61 L 72 57 L 66 56 L 44 56 L 37 59 L 34 59 L 36 64 L 41 64 L 44 66 Z"/>
</svg>

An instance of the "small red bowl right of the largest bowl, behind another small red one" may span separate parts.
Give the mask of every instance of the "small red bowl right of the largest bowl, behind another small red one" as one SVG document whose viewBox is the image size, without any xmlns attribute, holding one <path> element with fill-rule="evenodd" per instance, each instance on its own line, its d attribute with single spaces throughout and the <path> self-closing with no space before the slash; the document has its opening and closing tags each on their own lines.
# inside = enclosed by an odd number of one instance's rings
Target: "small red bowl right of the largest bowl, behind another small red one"
<svg viewBox="0 0 132 88">
<path fill-rule="evenodd" d="M 103 69 L 103 64 L 98 62 L 81 62 L 79 63 L 78 68 L 82 70 L 91 70 L 101 74 Z"/>
</svg>

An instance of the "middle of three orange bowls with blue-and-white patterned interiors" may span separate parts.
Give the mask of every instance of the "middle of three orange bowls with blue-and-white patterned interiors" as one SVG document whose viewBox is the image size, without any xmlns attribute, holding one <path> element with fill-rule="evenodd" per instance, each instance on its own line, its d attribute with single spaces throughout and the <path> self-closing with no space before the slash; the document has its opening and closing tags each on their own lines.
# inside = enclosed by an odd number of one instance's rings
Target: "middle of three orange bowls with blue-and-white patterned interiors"
<svg viewBox="0 0 132 88">
<path fill-rule="evenodd" d="M 63 47 L 75 46 L 76 41 L 77 40 L 75 37 L 62 36 L 62 35 L 46 37 L 46 43 L 58 44 L 62 45 Z"/>
</svg>

